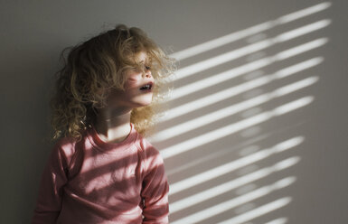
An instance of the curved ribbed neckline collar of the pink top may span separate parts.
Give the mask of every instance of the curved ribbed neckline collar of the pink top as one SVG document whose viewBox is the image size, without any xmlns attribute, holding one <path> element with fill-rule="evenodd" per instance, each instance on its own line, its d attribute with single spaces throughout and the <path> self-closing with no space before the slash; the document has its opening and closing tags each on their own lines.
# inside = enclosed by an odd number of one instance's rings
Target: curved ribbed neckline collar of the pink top
<svg viewBox="0 0 348 224">
<path fill-rule="evenodd" d="M 102 153 L 107 153 L 107 154 L 118 154 L 121 153 L 128 148 L 130 148 L 131 145 L 134 145 L 136 142 L 136 128 L 132 123 L 130 123 L 130 132 L 127 135 L 127 138 L 123 140 L 122 142 L 119 143 L 107 143 L 104 142 L 98 135 L 96 129 L 94 126 L 92 126 L 89 129 L 89 141 L 92 145 L 97 147 L 99 151 Z"/>
</svg>

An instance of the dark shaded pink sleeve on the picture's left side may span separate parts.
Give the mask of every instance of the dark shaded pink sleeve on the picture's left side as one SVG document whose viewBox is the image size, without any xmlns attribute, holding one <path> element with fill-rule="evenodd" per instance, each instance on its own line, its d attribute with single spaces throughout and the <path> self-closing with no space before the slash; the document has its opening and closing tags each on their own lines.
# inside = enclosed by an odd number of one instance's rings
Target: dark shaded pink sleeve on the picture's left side
<svg viewBox="0 0 348 224">
<path fill-rule="evenodd" d="M 33 224 L 55 223 L 61 211 L 62 187 L 67 182 L 67 160 L 56 145 L 42 173 Z"/>
</svg>

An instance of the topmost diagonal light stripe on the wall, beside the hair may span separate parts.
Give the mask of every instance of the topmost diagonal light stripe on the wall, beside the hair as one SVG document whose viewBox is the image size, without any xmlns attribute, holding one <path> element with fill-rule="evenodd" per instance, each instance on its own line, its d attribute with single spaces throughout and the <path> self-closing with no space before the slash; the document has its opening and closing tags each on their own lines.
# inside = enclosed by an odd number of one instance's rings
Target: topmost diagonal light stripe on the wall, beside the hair
<svg viewBox="0 0 348 224">
<path fill-rule="evenodd" d="M 230 42 L 238 41 L 238 40 L 240 40 L 244 37 L 247 37 L 249 35 L 253 35 L 256 33 L 261 33 L 261 32 L 267 31 L 268 29 L 273 28 L 274 26 L 284 24 L 284 23 L 289 23 L 289 22 L 295 21 L 296 19 L 303 18 L 307 15 L 318 13 L 318 12 L 323 11 L 324 9 L 330 7 L 330 5 L 331 5 L 330 2 L 324 2 L 324 3 L 318 4 L 318 5 L 313 5 L 313 6 L 306 8 L 306 9 L 296 11 L 295 13 L 283 15 L 283 16 L 277 18 L 276 20 L 268 21 L 266 23 L 260 23 L 260 24 L 254 25 L 252 27 L 249 27 L 245 30 L 241 30 L 241 31 L 235 32 L 235 33 L 230 33 L 228 35 L 222 36 L 220 38 L 214 39 L 214 40 L 209 41 L 209 42 L 203 42 L 201 44 L 198 44 L 198 45 L 193 46 L 191 48 L 185 49 L 183 51 L 174 52 L 170 56 L 175 58 L 177 61 L 181 61 L 183 59 L 197 55 L 199 53 L 202 53 L 205 51 L 210 51 L 212 49 L 221 47 L 221 46 L 228 44 Z"/>
</svg>

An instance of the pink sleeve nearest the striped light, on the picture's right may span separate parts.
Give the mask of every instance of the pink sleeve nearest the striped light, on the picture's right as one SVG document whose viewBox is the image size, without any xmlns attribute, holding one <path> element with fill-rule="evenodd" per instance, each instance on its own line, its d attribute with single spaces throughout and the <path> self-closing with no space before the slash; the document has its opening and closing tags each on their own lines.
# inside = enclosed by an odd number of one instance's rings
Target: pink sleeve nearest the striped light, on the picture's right
<svg viewBox="0 0 348 224">
<path fill-rule="evenodd" d="M 144 200 L 143 223 L 169 223 L 168 191 L 164 161 L 159 152 L 146 145 L 146 175 L 141 196 Z"/>
</svg>

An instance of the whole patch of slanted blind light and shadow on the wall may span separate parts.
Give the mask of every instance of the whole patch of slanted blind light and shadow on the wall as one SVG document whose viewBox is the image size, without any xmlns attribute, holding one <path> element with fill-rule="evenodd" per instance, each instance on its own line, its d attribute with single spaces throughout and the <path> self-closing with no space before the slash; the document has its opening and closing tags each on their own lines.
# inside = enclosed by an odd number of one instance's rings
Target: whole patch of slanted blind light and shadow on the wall
<svg viewBox="0 0 348 224">
<path fill-rule="evenodd" d="M 331 20 L 322 13 L 330 5 L 172 55 L 183 66 L 149 139 L 169 168 L 171 223 L 287 223 L 287 214 L 272 213 L 293 201 L 286 189 L 296 184 L 291 169 L 306 140 L 293 129 L 306 118 L 286 121 L 315 100 L 308 89 L 319 80 L 311 70 L 324 61 L 317 50 L 329 41 L 322 31 Z"/>
</svg>

